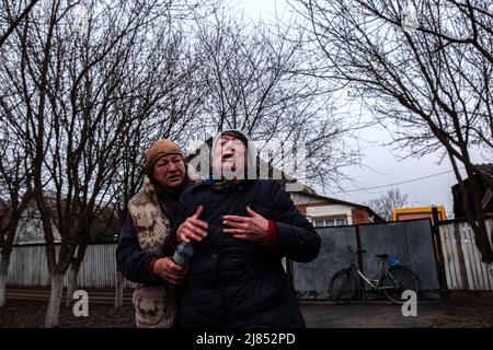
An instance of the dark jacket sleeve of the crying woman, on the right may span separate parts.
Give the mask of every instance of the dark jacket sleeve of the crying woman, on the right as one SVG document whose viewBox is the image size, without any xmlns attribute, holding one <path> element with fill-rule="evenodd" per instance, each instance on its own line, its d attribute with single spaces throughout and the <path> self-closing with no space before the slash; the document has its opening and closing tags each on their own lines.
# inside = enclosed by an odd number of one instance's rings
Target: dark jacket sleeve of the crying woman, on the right
<svg viewBox="0 0 493 350">
<path fill-rule="evenodd" d="M 289 194 L 279 183 L 274 185 L 273 220 L 277 225 L 278 248 L 287 258 L 309 262 L 320 250 L 320 236 L 311 223 L 296 209 Z"/>
</svg>

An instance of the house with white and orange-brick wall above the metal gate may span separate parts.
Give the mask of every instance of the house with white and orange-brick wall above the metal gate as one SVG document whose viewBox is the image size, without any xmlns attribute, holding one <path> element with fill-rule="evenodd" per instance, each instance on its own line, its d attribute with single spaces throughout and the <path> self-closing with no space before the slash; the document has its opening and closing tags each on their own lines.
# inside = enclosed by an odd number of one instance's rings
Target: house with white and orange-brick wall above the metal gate
<svg viewBox="0 0 493 350">
<path fill-rule="evenodd" d="M 314 228 L 386 222 L 369 207 L 318 195 L 308 186 L 290 191 L 290 195 L 298 210 L 311 220 Z"/>
</svg>

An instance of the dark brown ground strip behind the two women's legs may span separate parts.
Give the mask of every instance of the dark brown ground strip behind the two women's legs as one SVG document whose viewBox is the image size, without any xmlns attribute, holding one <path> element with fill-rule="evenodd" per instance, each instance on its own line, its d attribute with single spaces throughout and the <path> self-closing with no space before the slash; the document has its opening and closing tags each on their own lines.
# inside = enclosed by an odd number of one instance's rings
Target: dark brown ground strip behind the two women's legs
<svg viewBox="0 0 493 350">
<path fill-rule="evenodd" d="M 44 325 L 46 302 L 8 300 L 0 308 L 1 328 L 38 328 Z M 387 303 L 302 303 L 308 327 L 317 328 L 423 328 L 493 327 L 493 307 L 446 306 L 440 302 L 419 304 L 416 317 L 402 316 L 400 306 Z M 61 328 L 133 328 L 134 310 L 125 304 L 115 311 L 112 304 L 90 304 L 88 317 L 76 317 L 71 307 L 61 305 Z"/>
</svg>

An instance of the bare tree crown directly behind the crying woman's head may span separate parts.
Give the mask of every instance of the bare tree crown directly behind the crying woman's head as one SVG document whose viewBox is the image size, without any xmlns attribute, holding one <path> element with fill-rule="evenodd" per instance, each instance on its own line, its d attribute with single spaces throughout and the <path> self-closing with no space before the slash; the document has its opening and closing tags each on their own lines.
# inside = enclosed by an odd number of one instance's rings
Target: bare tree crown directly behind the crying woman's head
<svg viewBox="0 0 493 350">
<path fill-rule="evenodd" d="M 359 125 L 335 117 L 326 84 L 303 73 L 305 37 L 294 23 L 249 23 L 219 9 L 197 23 L 197 45 L 204 56 L 204 133 L 242 129 L 262 152 L 284 150 L 295 158 L 302 144 L 301 179 L 322 186 L 339 183 L 341 170 L 357 161 L 346 137 Z M 280 154 L 273 158 L 286 167 Z M 296 164 L 287 167 L 298 172 Z"/>
</svg>

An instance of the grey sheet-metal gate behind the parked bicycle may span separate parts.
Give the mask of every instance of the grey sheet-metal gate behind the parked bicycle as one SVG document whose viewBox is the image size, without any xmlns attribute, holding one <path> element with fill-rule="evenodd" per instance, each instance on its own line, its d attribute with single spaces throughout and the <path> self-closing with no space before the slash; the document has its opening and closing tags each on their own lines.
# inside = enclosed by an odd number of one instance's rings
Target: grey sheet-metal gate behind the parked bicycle
<svg viewBox="0 0 493 350">
<path fill-rule="evenodd" d="M 428 219 L 316 230 L 322 240 L 319 256 L 308 264 L 293 262 L 293 282 L 301 300 L 329 299 L 331 278 L 349 264 L 348 245 L 367 250 L 360 257 L 360 267 L 369 278 L 378 275 L 375 255 L 389 254 L 411 265 L 420 278 L 422 291 L 428 295 L 440 287 Z"/>
</svg>

